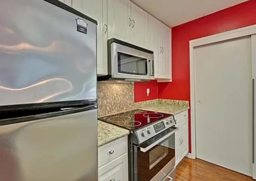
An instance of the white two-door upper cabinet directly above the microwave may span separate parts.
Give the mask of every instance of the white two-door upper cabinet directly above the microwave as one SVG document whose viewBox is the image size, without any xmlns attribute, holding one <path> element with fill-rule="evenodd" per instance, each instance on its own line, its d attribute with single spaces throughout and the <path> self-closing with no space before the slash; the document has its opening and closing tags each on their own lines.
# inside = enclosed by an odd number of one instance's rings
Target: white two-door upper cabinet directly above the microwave
<svg viewBox="0 0 256 181">
<path fill-rule="evenodd" d="M 129 0 L 108 0 L 108 38 L 146 48 L 148 13 Z"/>
</svg>

